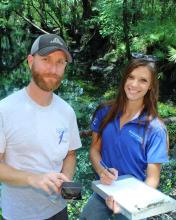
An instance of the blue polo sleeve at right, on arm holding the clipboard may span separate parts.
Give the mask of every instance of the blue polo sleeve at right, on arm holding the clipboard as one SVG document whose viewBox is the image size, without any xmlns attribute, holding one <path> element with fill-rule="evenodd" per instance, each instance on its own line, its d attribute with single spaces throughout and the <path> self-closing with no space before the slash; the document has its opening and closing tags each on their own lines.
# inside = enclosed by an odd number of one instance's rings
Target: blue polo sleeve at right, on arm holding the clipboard
<svg viewBox="0 0 176 220">
<path fill-rule="evenodd" d="M 168 162 L 167 131 L 164 127 L 152 132 L 147 147 L 148 163 Z"/>
</svg>

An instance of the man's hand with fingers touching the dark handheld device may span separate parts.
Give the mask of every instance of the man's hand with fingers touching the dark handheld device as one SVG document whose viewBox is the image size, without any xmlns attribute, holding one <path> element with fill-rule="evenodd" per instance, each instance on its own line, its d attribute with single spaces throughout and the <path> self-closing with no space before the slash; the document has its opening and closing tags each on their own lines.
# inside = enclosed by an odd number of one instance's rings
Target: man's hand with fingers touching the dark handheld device
<svg viewBox="0 0 176 220">
<path fill-rule="evenodd" d="M 53 192 L 60 193 L 62 183 L 69 182 L 70 179 L 63 173 L 46 173 L 46 174 L 31 174 L 28 177 L 29 185 L 36 188 L 42 189 L 48 194 Z"/>
</svg>

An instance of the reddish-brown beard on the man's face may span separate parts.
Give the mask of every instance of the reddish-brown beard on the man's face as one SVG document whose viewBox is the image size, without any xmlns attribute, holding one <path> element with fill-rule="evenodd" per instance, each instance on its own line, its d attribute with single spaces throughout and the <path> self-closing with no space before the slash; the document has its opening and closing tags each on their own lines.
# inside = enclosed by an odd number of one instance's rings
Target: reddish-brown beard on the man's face
<svg viewBox="0 0 176 220">
<path fill-rule="evenodd" d="M 54 91 L 55 89 L 57 89 L 60 86 L 61 83 L 61 78 L 53 73 L 44 73 L 41 74 L 40 72 L 38 72 L 35 69 L 35 66 L 32 65 L 31 68 L 31 72 L 32 72 L 32 78 L 35 82 L 35 84 L 42 90 L 46 91 L 46 92 L 50 92 L 50 91 Z M 45 78 L 47 78 L 45 80 Z"/>
</svg>

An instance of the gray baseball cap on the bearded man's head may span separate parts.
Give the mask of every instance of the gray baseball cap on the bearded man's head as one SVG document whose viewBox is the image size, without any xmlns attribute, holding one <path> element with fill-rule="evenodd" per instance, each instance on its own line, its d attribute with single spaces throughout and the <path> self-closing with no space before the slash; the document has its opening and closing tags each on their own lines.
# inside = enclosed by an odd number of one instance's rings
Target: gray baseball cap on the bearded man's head
<svg viewBox="0 0 176 220">
<path fill-rule="evenodd" d="M 40 56 L 48 55 L 57 50 L 62 50 L 69 63 L 72 62 L 72 57 L 64 40 L 56 34 L 43 34 L 40 35 L 33 43 L 31 48 L 31 55 L 38 54 Z"/>
</svg>

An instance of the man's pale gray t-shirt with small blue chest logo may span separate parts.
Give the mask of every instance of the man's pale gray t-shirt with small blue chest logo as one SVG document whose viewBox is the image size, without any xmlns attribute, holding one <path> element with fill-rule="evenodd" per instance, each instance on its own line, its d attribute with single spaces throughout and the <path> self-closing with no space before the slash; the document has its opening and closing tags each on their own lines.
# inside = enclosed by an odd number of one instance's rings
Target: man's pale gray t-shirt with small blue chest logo
<svg viewBox="0 0 176 220">
<path fill-rule="evenodd" d="M 75 113 L 60 97 L 53 94 L 43 107 L 22 89 L 0 102 L 0 153 L 6 164 L 33 173 L 60 172 L 67 152 L 80 146 Z M 32 187 L 3 184 L 1 194 L 7 220 L 43 220 L 66 206 L 61 196 L 53 199 Z"/>
</svg>

